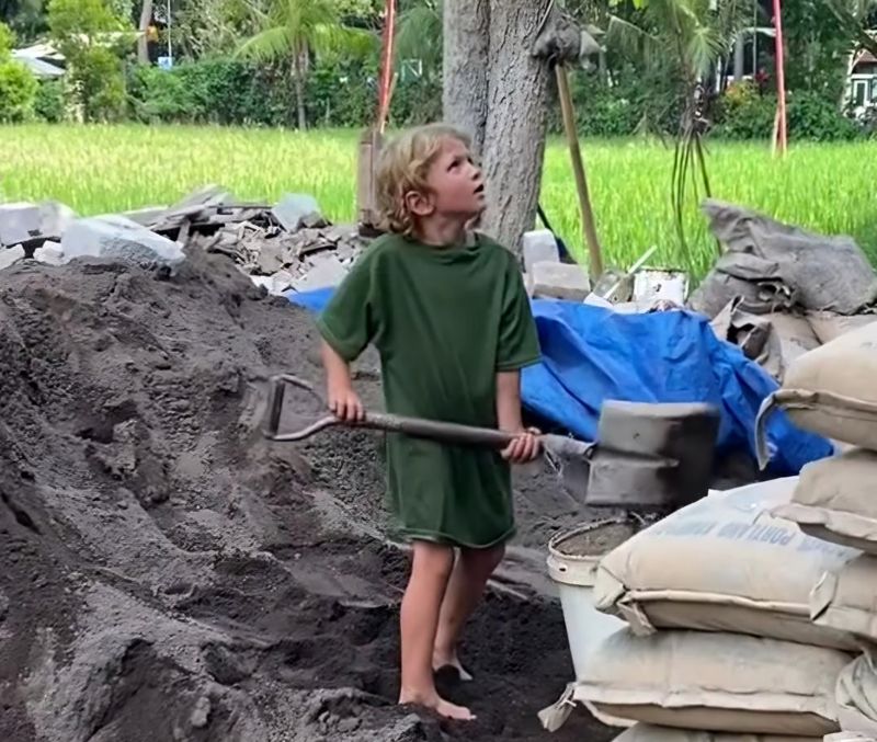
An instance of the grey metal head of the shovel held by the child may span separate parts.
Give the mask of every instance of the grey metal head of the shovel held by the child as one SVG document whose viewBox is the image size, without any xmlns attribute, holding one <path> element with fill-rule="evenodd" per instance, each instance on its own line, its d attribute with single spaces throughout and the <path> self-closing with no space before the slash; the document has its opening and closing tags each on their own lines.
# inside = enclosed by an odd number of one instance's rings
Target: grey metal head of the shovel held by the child
<svg viewBox="0 0 877 742">
<path fill-rule="evenodd" d="M 703 403 L 606 401 L 584 503 L 673 512 L 709 490 L 718 410 Z"/>
</svg>

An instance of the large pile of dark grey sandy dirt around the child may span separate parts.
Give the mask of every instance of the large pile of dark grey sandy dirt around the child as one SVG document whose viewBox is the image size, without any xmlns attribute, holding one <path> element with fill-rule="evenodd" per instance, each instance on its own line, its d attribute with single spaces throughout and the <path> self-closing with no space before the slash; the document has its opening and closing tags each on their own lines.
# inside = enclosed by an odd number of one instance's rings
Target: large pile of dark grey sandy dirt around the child
<svg viewBox="0 0 877 742">
<path fill-rule="evenodd" d="M 572 677 L 544 545 L 586 515 L 544 472 L 466 633 L 477 682 L 442 682 L 478 720 L 395 705 L 407 558 L 379 440 L 266 443 L 277 372 L 319 378 L 311 320 L 226 258 L 0 273 L 0 739 L 610 739 L 536 718 Z M 373 356 L 357 384 L 378 402 Z"/>
</svg>

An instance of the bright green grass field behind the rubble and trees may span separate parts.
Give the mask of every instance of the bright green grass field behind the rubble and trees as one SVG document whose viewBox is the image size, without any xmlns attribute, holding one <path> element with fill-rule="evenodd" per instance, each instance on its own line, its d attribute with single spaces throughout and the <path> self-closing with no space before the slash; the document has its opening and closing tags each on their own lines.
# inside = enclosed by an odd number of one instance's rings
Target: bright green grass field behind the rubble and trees
<svg viewBox="0 0 877 742">
<path fill-rule="evenodd" d="M 210 127 L 0 127 L 0 199 L 61 201 L 83 215 L 168 204 L 221 184 L 250 199 L 312 193 L 333 220 L 354 213 L 356 132 Z M 642 140 L 584 141 L 597 229 L 607 262 L 626 265 L 658 244 L 653 262 L 679 264 L 670 207 L 672 149 Z M 766 146 L 710 146 L 714 195 L 807 228 L 848 233 L 877 256 L 877 142 L 797 145 L 785 161 Z M 501 187 L 501 185 L 500 185 Z M 582 238 L 568 151 L 549 144 L 542 204 L 567 242 Z M 696 272 L 715 252 L 692 203 L 687 232 Z"/>
</svg>

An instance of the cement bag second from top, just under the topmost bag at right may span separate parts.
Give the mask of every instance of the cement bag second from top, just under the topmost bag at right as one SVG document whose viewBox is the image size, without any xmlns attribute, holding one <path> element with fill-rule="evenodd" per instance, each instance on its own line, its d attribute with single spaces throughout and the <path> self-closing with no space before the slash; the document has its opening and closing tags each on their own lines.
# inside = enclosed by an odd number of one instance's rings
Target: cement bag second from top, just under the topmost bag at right
<svg viewBox="0 0 877 742">
<path fill-rule="evenodd" d="M 825 541 L 877 555 L 877 454 L 854 448 L 808 464 L 788 504 L 773 515 Z"/>
</svg>

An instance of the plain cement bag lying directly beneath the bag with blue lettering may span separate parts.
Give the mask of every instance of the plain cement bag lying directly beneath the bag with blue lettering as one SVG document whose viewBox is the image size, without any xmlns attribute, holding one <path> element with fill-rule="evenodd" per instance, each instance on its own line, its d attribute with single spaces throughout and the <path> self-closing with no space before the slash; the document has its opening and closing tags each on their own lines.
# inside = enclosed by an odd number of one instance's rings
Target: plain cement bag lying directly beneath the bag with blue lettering
<svg viewBox="0 0 877 742">
<path fill-rule="evenodd" d="M 736 633 L 615 632 L 595 650 L 576 700 L 649 724 L 742 734 L 840 731 L 834 687 L 852 657 Z"/>
</svg>

